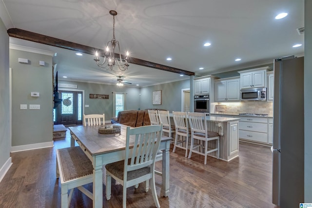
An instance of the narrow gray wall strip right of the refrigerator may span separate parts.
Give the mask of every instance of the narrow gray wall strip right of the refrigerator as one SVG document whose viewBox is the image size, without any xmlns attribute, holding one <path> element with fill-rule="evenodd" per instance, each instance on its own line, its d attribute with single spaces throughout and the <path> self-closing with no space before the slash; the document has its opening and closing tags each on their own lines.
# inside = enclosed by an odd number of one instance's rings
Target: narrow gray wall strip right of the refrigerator
<svg viewBox="0 0 312 208">
<path fill-rule="evenodd" d="M 305 0 L 305 57 L 304 57 L 304 201 L 312 202 L 312 0 Z"/>
</svg>

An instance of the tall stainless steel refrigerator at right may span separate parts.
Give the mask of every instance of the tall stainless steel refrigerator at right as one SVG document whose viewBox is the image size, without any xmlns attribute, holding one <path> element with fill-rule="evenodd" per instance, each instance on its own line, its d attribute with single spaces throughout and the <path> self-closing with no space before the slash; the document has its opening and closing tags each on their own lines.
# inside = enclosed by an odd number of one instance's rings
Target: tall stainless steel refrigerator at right
<svg viewBox="0 0 312 208">
<path fill-rule="evenodd" d="M 281 208 L 304 202 L 304 57 L 274 61 L 272 202 Z"/>
</svg>

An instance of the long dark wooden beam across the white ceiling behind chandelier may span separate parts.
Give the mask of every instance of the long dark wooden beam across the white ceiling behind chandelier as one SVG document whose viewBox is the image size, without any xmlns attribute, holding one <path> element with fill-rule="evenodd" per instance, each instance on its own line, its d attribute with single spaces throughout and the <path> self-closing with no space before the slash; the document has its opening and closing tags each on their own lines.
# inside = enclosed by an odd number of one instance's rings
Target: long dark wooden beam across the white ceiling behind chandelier
<svg viewBox="0 0 312 208">
<path fill-rule="evenodd" d="M 65 48 L 65 49 L 69 49 L 69 50 L 74 50 L 74 51 L 82 52 L 82 53 L 85 53 L 85 54 L 95 55 L 96 51 L 98 51 L 99 54 L 104 54 L 105 53 L 101 49 L 93 48 L 93 47 L 86 46 L 86 45 L 81 45 L 81 44 L 78 44 L 78 43 L 62 40 L 62 39 L 59 39 L 59 38 L 53 38 L 53 37 L 41 35 L 41 34 L 38 34 L 38 33 L 29 32 L 29 31 L 26 31 L 26 30 L 21 30 L 21 29 L 18 29 L 18 28 L 10 28 L 10 29 L 7 30 L 7 33 L 9 34 L 10 37 L 13 37 L 13 38 L 20 38 L 20 39 L 29 40 L 29 41 L 33 41 L 33 42 L 38 42 L 38 43 L 42 43 L 42 44 L 46 44 L 46 45 L 56 46 L 56 47 L 59 47 L 59 48 Z M 115 56 L 118 57 L 119 55 L 116 54 Z M 124 58 L 123 55 L 122 55 L 122 58 Z M 128 62 L 129 63 L 133 63 L 133 64 L 137 64 L 137 65 L 141 65 L 141 66 L 145 66 L 145 67 L 150 67 L 150 68 L 155 68 L 155 69 L 159 69 L 159 70 L 164 70 L 164 71 L 167 71 L 167 72 L 173 72 L 173 73 L 177 73 L 177 74 L 183 74 L 183 75 L 188 75 L 188 76 L 195 75 L 194 72 L 189 72 L 189 71 L 186 71 L 186 70 L 177 69 L 177 68 L 174 68 L 174 67 L 153 63 L 153 62 L 142 60 L 142 59 L 138 59 L 138 58 L 135 58 L 135 57 L 130 57 Z"/>
</svg>

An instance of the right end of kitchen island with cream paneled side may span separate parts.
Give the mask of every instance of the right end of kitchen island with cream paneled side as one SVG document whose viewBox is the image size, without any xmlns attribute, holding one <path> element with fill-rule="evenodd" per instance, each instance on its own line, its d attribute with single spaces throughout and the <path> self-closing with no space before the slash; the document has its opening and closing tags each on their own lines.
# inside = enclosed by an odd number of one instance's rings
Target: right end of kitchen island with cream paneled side
<svg viewBox="0 0 312 208">
<path fill-rule="evenodd" d="M 239 118 L 207 116 L 208 131 L 218 132 L 220 136 L 219 157 L 221 160 L 230 161 L 238 157 Z M 214 149 L 215 142 L 208 142 L 208 147 Z M 216 157 L 216 152 L 211 152 L 210 156 Z"/>
</svg>

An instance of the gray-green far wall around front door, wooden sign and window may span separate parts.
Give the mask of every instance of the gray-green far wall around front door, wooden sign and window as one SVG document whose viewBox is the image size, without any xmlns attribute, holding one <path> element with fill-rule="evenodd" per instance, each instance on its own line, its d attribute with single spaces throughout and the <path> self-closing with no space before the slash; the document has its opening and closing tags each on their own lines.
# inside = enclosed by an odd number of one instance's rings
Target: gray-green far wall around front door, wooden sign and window
<svg viewBox="0 0 312 208">
<path fill-rule="evenodd" d="M 123 86 L 118 87 L 117 85 L 108 84 L 95 84 L 87 82 L 75 82 L 67 80 L 59 80 L 59 84 L 75 84 L 77 85 L 77 90 L 84 90 L 85 103 L 84 105 L 89 105 L 89 107 L 84 108 L 84 114 L 102 114 L 105 113 L 105 120 L 108 121 L 113 116 L 113 94 L 117 93 L 127 93 L 126 101 L 127 106 L 125 110 L 137 110 L 140 108 L 140 88 Z M 59 89 L 60 90 L 60 89 Z M 67 89 L 71 90 L 71 89 Z M 109 99 L 90 99 L 89 94 L 100 94 L 109 95 Z"/>
</svg>

